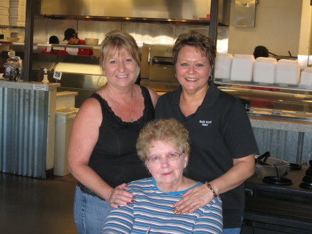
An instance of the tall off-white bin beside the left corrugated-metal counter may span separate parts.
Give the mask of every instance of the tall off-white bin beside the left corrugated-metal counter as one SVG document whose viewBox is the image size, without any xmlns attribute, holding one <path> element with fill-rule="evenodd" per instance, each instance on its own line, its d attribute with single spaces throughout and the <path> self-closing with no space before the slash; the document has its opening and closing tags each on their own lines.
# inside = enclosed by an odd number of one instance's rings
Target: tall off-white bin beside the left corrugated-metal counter
<svg viewBox="0 0 312 234">
<path fill-rule="evenodd" d="M 55 176 L 66 176 L 69 174 L 67 163 L 67 151 L 69 136 L 73 119 L 75 119 L 78 108 L 60 108 L 55 111 L 55 148 L 54 169 Z"/>
</svg>

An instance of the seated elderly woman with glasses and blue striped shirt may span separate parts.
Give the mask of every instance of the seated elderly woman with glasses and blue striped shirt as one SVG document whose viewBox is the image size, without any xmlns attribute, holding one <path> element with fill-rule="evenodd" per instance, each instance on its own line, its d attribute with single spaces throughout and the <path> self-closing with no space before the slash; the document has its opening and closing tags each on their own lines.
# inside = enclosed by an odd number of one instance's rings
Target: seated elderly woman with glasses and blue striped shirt
<svg viewBox="0 0 312 234">
<path fill-rule="evenodd" d="M 189 151 L 189 132 L 177 120 L 146 124 L 139 133 L 137 152 L 152 177 L 128 184 L 134 203 L 114 208 L 101 233 L 223 233 L 220 197 L 191 213 L 175 209 L 182 194 L 202 185 L 183 176 Z M 189 203 L 190 208 L 195 205 Z"/>
</svg>

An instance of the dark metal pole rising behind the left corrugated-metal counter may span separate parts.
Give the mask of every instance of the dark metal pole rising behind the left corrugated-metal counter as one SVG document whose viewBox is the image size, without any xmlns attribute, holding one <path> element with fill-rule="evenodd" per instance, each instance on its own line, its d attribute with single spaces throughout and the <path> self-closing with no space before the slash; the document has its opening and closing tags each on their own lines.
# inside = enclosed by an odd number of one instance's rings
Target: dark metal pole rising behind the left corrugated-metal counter
<svg viewBox="0 0 312 234">
<path fill-rule="evenodd" d="M 35 0 L 26 1 L 26 23 L 25 23 L 25 49 L 24 49 L 24 77 L 28 82 L 32 76 L 33 69 L 33 16 L 35 12 Z"/>
</svg>

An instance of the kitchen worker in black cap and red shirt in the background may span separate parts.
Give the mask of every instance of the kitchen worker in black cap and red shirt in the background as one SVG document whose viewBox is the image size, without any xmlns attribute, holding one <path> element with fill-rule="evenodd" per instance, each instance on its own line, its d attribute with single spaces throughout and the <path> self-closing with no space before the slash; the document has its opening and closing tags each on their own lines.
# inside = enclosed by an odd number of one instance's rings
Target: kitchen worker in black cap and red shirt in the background
<svg viewBox="0 0 312 234">
<path fill-rule="evenodd" d="M 73 28 L 66 29 L 66 31 L 64 32 L 64 40 L 67 40 L 67 44 L 85 45 L 85 40 L 79 39 L 78 32 L 76 32 Z M 78 56 L 93 56 L 93 50 L 84 48 L 64 48 L 64 50 L 58 51 L 58 54 L 60 54 L 61 56 L 69 54 Z"/>
</svg>

